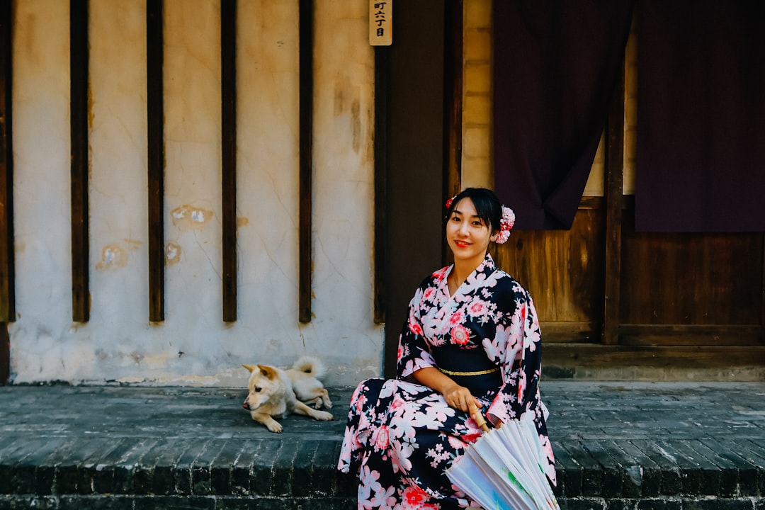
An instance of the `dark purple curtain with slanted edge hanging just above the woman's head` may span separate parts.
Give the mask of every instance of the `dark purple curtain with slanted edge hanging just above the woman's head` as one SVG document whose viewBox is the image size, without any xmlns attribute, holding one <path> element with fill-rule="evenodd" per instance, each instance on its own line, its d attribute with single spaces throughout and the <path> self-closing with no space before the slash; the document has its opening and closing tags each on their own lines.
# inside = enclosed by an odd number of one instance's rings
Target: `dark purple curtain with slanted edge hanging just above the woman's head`
<svg viewBox="0 0 765 510">
<path fill-rule="evenodd" d="M 519 229 L 569 229 L 603 132 L 633 0 L 495 0 L 494 184 Z"/>
</svg>

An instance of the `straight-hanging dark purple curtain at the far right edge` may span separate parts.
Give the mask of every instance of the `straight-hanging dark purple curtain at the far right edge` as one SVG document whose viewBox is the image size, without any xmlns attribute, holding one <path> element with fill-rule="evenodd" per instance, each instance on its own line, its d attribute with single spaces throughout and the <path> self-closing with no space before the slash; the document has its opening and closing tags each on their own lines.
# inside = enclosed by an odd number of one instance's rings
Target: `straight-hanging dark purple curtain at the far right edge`
<svg viewBox="0 0 765 510">
<path fill-rule="evenodd" d="M 765 231 L 765 2 L 638 13 L 636 230 Z"/>
</svg>

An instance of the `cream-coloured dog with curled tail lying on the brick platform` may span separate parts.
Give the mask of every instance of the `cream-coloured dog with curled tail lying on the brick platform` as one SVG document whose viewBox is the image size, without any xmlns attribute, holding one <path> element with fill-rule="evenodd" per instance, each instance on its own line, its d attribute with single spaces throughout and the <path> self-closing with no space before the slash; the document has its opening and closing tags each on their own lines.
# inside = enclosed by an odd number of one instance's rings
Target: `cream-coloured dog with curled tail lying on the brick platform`
<svg viewBox="0 0 765 510">
<path fill-rule="evenodd" d="M 332 401 L 319 380 L 325 371 L 317 358 L 303 356 L 288 370 L 270 365 L 242 366 L 250 372 L 249 393 L 242 407 L 249 411 L 253 420 L 272 432 L 282 432 L 282 424 L 274 417 L 284 417 L 288 413 L 310 416 L 318 421 L 334 419 L 332 414 L 319 410 L 322 406 L 331 408 Z"/>
</svg>

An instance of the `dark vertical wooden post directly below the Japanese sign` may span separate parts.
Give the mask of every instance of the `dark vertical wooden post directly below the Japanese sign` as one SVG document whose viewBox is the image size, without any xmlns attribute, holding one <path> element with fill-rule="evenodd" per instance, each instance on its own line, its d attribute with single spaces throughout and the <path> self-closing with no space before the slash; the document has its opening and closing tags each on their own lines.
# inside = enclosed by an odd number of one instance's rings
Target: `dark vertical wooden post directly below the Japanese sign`
<svg viewBox="0 0 765 510">
<path fill-rule="evenodd" d="M 386 221 L 388 205 L 388 74 L 390 49 L 375 47 L 375 232 L 374 321 L 384 324 L 386 275 Z"/>
</svg>

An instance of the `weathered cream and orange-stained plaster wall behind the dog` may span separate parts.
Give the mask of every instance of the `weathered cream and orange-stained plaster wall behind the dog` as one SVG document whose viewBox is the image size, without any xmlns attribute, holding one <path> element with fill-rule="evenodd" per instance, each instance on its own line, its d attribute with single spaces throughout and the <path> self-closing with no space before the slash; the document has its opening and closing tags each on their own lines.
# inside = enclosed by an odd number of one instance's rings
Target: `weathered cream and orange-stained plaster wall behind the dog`
<svg viewBox="0 0 765 510">
<path fill-rule="evenodd" d="M 238 2 L 238 320 L 221 320 L 220 4 L 164 2 L 165 320 L 148 322 L 145 2 L 90 2 L 91 319 L 73 323 L 68 2 L 14 6 L 15 382 L 243 385 L 322 356 L 379 375 L 367 2 L 317 2 L 314 300 L 298 322 L 298 2 Z"/>
</svg>

